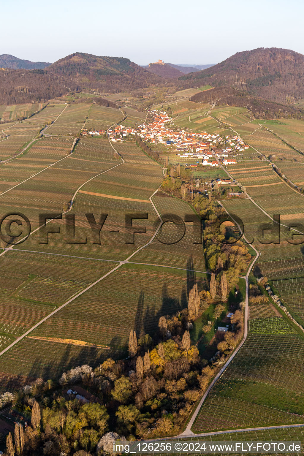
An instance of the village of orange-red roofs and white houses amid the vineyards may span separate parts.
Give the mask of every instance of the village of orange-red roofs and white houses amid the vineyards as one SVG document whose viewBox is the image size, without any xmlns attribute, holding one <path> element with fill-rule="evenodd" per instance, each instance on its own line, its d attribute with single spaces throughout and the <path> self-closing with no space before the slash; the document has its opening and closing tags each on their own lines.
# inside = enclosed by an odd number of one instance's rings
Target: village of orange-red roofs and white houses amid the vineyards
<svg viewBox="0 0 304 456">
<path fill-rule="evenodd" d="M 232 137 L 226 135 L 222 138 L 219 134 L 195 133 L 188 129 L 176 130 L 173 129 L 172 119 L 166 114 L 166 111 L 151 110 L 148 111 L 148 114 L 152 116 L 152 122 L 139 124 L 137 128 L 116 125 L 108 130 L 84 129 L 81 134 L 82 136 L 107 134 L 111 141 L 118 142 L 138 135 L 146 143 L 174 148 L 174 151 L 177 152 L 176 155 L 180 158 L 196 160 L 195 163 L 190 162 L 190 167 L 199 163 L 203 166 L 219 166 L 219 162 L 222 162 L 223 165 L 233 165 L 237 163 L 237 158 L 243 155 L 244 150 L 249 149 L 249 145 L 245 144 L 237 135 Z M 222 147 L 216 147 L 219 144 Z M 218 160 L 214 160 L 214 158 Z"/>
</svg>

